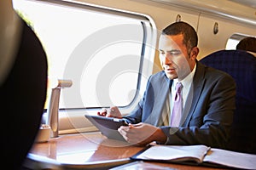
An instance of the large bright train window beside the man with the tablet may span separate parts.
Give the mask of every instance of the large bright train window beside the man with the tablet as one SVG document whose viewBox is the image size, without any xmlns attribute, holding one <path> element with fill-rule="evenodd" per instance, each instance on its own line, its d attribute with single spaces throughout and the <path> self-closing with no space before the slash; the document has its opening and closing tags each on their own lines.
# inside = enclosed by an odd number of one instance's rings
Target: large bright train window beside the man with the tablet
<svg viewBox="0 0 256 170">
<path fill-rule="evenodd" d="M 148 16 L 66 1 L 14 0 L 14 8 L 48 57 L 45 108 L 57 79 L 73 81 L 61 89 L 60 108 L 125 107 L 140 98 L 154 63 Z"/>
</svg>

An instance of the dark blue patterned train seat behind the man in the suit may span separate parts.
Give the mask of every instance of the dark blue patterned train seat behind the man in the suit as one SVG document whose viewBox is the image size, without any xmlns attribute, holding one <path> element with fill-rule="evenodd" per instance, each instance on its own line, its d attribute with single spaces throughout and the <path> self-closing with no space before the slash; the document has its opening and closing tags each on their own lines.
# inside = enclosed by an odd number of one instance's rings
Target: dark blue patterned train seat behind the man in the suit
<svg viewBox="0 0 256 170">
<path fill-rule="evenodd" d="M 236 80 L 236 111 L 229 149 L 256 154 L 256 57 L 243 50 L 220 50 L 200 62 L 225 71 Z"/>
</svg>

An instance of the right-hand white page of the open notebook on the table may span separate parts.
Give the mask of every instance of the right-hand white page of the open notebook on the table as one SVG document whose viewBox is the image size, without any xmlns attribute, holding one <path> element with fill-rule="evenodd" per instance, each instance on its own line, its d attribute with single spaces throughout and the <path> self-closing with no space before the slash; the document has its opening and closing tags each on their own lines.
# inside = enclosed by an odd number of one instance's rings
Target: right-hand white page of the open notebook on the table
<svg viewBox="0 0 256 170">
<path fill-rule="evenodd" d="M 256 155 L 230 150 L 211 149 L 204 161 L 228 167 L 256 169 Z"/>
</svg>

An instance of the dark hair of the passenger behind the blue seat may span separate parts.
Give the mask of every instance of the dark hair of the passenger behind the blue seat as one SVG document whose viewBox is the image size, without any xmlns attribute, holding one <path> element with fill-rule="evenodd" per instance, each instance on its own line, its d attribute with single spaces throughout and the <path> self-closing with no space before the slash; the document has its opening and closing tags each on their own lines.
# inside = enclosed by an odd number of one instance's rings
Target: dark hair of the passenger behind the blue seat
<svg viewBox="0 0 256 170">
<path fill-rule="evenodd" d="M 251 51 L 256 53 L 256 38 L 255 37 L 245 37 L 237 45 L 236 49 Z"/>
</svg>

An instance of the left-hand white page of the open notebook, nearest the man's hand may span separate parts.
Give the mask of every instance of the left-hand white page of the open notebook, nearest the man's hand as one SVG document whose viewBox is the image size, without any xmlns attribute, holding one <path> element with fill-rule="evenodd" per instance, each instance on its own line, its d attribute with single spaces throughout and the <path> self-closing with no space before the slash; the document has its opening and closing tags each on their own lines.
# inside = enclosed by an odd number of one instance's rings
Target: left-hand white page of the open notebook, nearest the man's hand
<svg viewBox="0 0 256 170">
<path fill-rule="evenodd" d="M 159 161 L 196 161 L 202 162 L 210 147 L 205 145 L 154 145 L 137 159 Z"/>
</svg>

